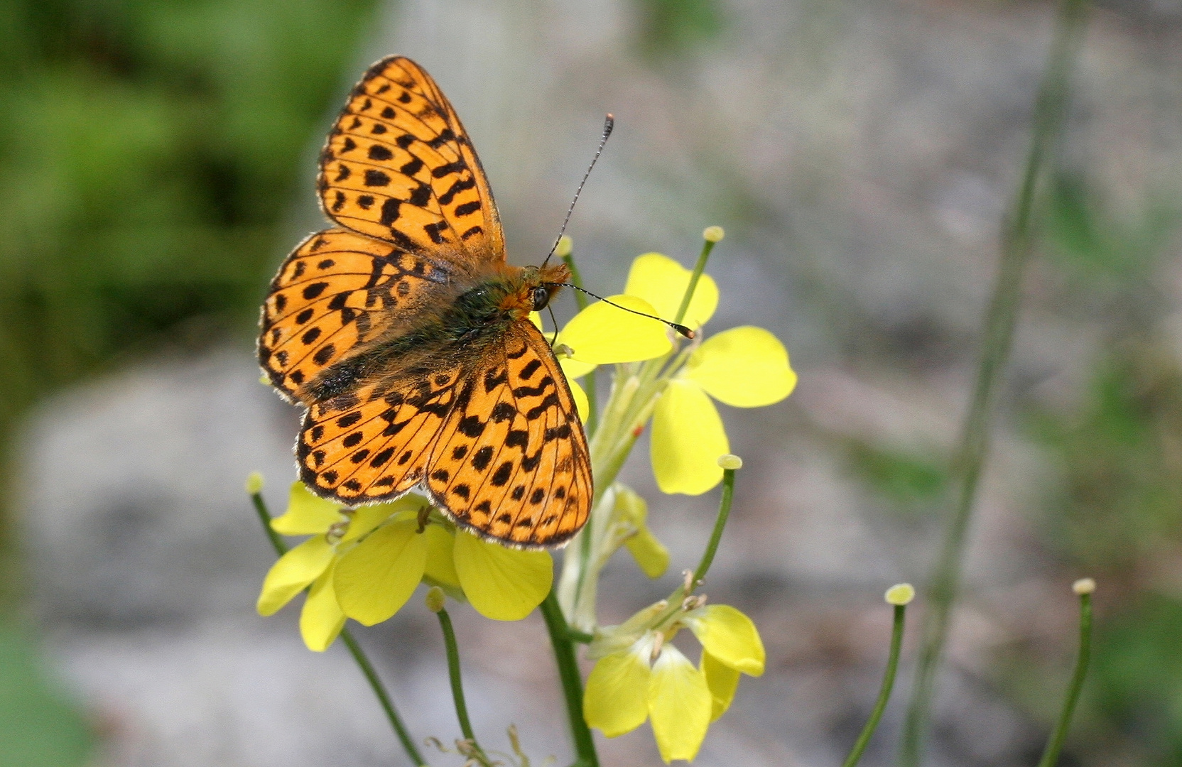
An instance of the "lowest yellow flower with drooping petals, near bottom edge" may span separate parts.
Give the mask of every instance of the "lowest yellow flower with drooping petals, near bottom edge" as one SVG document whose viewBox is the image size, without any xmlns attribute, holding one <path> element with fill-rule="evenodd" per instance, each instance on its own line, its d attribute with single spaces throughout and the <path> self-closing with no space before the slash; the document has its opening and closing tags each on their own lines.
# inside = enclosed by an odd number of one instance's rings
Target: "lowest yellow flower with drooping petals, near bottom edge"
<svg viewBox="0 0 1182 767">
<path fill-rule="evenodd" d="M 608 737 L 650 720 L 667 763 L 693 761 L 710 722 L 730 706 L 740 672 L 764 672 L 764 644 L 751 618 L 727 605 L 694 607 L 667 628 L 643 629 L 660 619 L 663 606 L 647 607 L 596 636 L 591 655 L 599 659 L 587 677 L 583 716 Z M 681 628 L 702 643 L 696 668 L 669 642 Z"/>
</svg>

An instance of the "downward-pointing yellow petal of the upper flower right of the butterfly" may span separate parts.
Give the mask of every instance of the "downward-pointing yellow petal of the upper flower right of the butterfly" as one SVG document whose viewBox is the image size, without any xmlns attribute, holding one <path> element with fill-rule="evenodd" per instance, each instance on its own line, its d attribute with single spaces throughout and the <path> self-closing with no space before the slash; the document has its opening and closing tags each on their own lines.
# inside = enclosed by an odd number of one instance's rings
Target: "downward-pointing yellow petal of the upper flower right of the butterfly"
<svg viewBox="0 0 1182 767">
<path fill-rule="evenodd" d="M 722 418 L 696 384 L 669 382 L 652 414 L 652 473 L 662 493 L 701 495 L 722 481 L 730 451 Z"/>
</svg>

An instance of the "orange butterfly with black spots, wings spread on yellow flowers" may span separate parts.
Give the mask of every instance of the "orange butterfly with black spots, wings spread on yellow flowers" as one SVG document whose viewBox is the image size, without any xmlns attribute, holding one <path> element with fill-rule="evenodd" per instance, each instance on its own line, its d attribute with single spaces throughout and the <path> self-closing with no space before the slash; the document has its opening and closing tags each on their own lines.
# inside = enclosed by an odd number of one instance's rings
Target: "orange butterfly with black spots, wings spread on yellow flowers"
<svg viewBox="0 0 1182 767">
<path fill-rule="evenodd" d="M 509 266 L 493 193 L 435 80 L 403 57 L 353 87 L 320 154 L 337 225 L 287 256 L 259 362 L 307 411 L 300 479 L 356 506 L 420 488 L 502 544 L 561 545 L 591 508 L 570 386 L 530 320 L 570 274 Z"/>
</svg>

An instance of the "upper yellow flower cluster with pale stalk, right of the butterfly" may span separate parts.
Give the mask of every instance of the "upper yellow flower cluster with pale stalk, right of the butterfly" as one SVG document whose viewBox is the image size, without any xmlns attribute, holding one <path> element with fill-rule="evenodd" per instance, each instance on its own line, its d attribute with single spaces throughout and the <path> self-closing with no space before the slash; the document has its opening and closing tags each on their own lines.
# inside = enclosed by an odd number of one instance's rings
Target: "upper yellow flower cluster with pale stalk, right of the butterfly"
<svg viewBox="0 0 1182 767">
<path fill-rule="evenodd" d="M 719 288 L 700 269 L 645 253 L 632 261 L 624 291 L 609 300 L 674 318 L 694 331 L 694 339 L 686 342 L 650 319 L 609 311 L 612 307 L 605 303 L 587 306 L 558 333 L 556 349 L 571 379 L 595 370 L 600 356 L 624 349 L 605 345 L 604 338 L 626 338 L 630 357 L 616 365 L 611 395 L 591 435 L 591 463 L 600 489 L 591 521 L 566 550 L 559 578 L 558 597 L 567 620 L 587 632 L 596 629 L 598 573 L 616 550 L 626 545 L 650 577 L 661 576 L 668 564 L 645 526 L 643 500 L 615 482 L 649 420 L 657 487 L 699 495 L 721 481 L 719 456 L 730 448 L 713 401 L 767 405 L 787 397 L 797 383 L 787 351 L 768 331 L 740 326 L 704 337 L 701 329 L 717 308 Z"/>
</svg>

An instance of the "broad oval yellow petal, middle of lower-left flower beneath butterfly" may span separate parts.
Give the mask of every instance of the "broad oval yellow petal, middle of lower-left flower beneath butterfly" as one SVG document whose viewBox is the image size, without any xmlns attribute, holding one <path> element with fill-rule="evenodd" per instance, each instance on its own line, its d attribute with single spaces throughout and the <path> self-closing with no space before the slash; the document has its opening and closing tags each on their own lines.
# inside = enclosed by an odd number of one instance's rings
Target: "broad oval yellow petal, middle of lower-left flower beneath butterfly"
<svg viewBox="0 0 1182 767">
<path fill-rule="evenodd" d="M 333 576 L 345 615 L 371 626 L 407 603 L 427 567 L 427 538 L 417 520 L 398 518 L 340 558 Z"/>
</svg>

